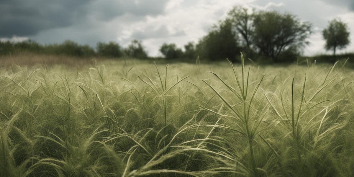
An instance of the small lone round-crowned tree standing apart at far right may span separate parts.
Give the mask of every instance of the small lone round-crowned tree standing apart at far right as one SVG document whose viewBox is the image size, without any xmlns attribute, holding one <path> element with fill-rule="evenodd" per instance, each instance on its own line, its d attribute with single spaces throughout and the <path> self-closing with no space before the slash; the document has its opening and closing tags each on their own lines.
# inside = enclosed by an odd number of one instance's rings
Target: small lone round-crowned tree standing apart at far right
<svg viewBox="0 0 354 177">
<path fill-rule="evenodd" d="M 328 27 L 322 31 L 326 50 L 333 50 L 333 55 L 336 55 L 337 48 L 343 49 L 350 43 L 349 34 L 346 23 L 340 19 L 330 21 Z"/>
</svg>

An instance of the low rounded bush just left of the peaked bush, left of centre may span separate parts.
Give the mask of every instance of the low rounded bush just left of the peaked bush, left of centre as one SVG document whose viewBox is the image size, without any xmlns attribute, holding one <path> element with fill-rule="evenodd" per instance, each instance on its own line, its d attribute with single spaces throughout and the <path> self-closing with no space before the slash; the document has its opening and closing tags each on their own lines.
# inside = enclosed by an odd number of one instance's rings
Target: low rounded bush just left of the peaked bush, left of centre
<svg viewBox="0 0 354 177">
<path fill-rule="evenodd" d="M 99 56 L 118 58 L 123 56 L 123 51 L 120 45 L 117 44 L 116 42 L 113 41 L 108 43 L 98 42 L 97 54 Z"/>
</svg>

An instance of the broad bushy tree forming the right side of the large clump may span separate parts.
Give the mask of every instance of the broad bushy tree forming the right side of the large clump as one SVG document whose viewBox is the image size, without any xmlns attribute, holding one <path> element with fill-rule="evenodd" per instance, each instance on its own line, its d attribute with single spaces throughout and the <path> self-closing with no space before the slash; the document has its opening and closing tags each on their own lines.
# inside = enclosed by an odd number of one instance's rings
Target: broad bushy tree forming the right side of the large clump
<svg viewBox="0 0 354 177">
<path fill-rule="evenodd" d="M 284 51 L 296 49 L 298 53 L 309 42 L 312 25 L 301 22 L 296 16 L 276 11 L 255 13 L 253 43 L 260 54 L 279 62 L 279 55 Z"/>
</svg>

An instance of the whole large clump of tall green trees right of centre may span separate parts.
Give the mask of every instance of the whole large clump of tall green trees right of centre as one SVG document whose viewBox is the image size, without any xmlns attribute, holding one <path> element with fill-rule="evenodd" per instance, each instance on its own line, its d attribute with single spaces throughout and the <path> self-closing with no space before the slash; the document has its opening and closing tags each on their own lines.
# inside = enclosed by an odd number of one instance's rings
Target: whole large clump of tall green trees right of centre
<svg viewBox="0 0 354 177">
<path fill-rule="evenodd" d="M 256 11 L 235 6 L 226 19 L 214 25 L 199 40 L 196 53 L 213 61 L 236 61 L 240 51 L 249 57 L 270 58 L 273 62 L 293 62 L 312 33 L 312 25 L 296 16 L 276 11 Z"/>
</svg>

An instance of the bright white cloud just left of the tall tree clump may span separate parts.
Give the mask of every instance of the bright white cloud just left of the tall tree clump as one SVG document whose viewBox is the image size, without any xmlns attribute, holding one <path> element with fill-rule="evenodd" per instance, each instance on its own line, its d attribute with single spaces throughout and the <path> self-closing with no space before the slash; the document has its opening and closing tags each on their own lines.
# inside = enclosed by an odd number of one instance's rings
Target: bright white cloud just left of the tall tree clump
<svg viewBox="0 0 354 177">
<path fill-rule="evenodd" d="M 202 36 L 206 35 L 207 29 L 217 23 L 219 19 L 225 17 L 232 6 L 250 2 L 253 2 L 253 0 L 171 0 L 166 6 L 164 15 L 149 16 L 144 22 L 131 24 L 130 32 L 132 32 L 132 35 L 134 32 L 141 31 L 149 33 L 148 28 L 151 26 L 166 26 L 170 35 L 161 35 L 163 38 L 155 37 L 143 40 L 149 55 L 159 56 L 159 47 L 164 42 L 176 43 L 181 48 L 188 41 L 197 42 Z M 181 32 L 184 35 L 175 35 Z M 128 42 L 129 40 L 125 41 L 125 43 Z"/>
</svg>

